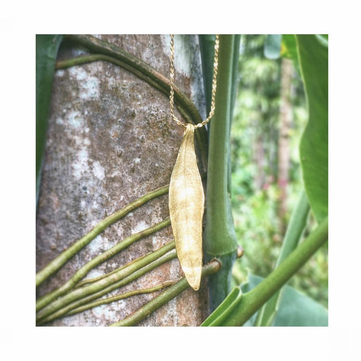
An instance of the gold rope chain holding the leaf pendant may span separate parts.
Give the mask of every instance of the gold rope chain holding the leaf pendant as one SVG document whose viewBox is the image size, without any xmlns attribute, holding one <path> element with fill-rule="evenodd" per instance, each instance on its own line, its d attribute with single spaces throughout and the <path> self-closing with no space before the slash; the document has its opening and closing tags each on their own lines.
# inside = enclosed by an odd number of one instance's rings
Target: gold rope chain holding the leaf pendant
<svg viewBox="0 0 361 361">
<path fill-rule="evenodd" d="M 217 71 L 218 71 L 218 49 L 219 49 L 219 34 L 216 35 L 216 42 L 214 43 L 214 62 L 213 62 L 213 80 L 212 80 L 212 101 L 210 105 L 210 112 L 207 119 L 203 122 L 196 124 L 195 128 L 203 127 L 206 123 L 210 121 L 210 118 L 213 117 L 214 109 L 216 109 L 216 89 L 217 89 Z M 183 128 L 186 128 L 187 125 L 179 121 L 179 119 L 174 114 L 174 34 L 170 34 L 170 115 L 173 120 Z"/>
</svg>

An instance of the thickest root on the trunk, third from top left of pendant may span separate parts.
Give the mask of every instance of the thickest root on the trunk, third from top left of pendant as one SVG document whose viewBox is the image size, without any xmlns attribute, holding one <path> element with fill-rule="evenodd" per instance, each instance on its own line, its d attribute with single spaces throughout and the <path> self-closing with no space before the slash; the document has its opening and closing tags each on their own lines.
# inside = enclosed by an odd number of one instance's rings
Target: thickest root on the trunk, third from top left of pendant
<svg viewBox="0 0 361 361">
<path fill-rule="evenodd" d="M 60 297 L 59 299 L 53 301 L 51 304 L 40 310 L 36 315 L 36 321 L 40 321 L 41 319 L 49 316 L 50 314 L 56 312 L 57 310 L 65 307 L 66 305 L 74 301 L 92 295 L 95 292 L 104 290 L 106 287 L 112 286 L 114 283 L 124 279 L 125 277 L 128 277 L 135 271 L 138 271 L 140 268 L 148 265 L 150 262 L 171 251 L 172 249 L 174 249 L 174 242 L 167 243 L 163 247 L 157 249 L 157 251 L 152 252 L 145 257 L 142 257 L 138 262 L 134 262 L 129 267 L 113 273 L 106 278 L 100 279 L 97 282 L 91 283 L 88 286 L 77 288 L 67 293 L 65 296 Z"/>
</svg>

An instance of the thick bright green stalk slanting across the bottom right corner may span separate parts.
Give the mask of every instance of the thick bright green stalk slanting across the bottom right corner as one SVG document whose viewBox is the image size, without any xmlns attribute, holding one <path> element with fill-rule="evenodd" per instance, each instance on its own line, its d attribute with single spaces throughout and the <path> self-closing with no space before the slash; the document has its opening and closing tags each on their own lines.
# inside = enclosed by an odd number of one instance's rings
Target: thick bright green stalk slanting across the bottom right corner
<svg viewBox="0 0 361 361">
<path fill-rule="evenodd" d="M 206 319 L 203 325 L 209 326 L 242 326 L 258 309 L 268 301 L 288 280 L 308 261 L 328 238 L 328 218 L 314 230 L 268 277 L 266 277 L 253 290 L 245 293 L 242 297 L 234 297 L 231 292 L 229 297 L 235 298 L 234 302 L 229 302 L 228 297 L 224 304 L 230 303 L 232 308 L 226 317 L 218 317 L 209 324 Z M 239 287 L 237 287 L 239 288 Z M 225 312 L 227 312 L 227 307 Z M 219 305 L 219 309 L 223 304 Z M 214 313 L 219 313 L 217 309 Z M 214 319 L 213 314 L 209 319 Z M 218 321 L 219 320 L 219 321 Z"/>
</svg>

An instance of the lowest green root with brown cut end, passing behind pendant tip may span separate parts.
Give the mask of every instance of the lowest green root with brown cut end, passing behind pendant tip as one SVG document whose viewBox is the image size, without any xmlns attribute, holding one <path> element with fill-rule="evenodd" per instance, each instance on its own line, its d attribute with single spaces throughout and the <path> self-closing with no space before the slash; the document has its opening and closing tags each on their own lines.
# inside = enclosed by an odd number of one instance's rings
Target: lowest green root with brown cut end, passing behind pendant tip
<svg viewBox="0 0 361 361">
<path fill-rule="evenodd" d="M 213 274 L 221 269 L 222 265 L 216 258 L 203 266 L 202 277 Z M 170 286 L 167 290 L 163 291 L 159 296 L 153 298 L 151 301 L 140 307 L 133 312 L 130 316 L 122 321 L 115 322 L 110 326 L 135 326 L 142 321 L 145 317 L 149 316 L 152 312 L 166 304 L 168 301 L 178 296 L 189 287 L 185 278 L 181 278 L 177 283 Z"/>
</svg>

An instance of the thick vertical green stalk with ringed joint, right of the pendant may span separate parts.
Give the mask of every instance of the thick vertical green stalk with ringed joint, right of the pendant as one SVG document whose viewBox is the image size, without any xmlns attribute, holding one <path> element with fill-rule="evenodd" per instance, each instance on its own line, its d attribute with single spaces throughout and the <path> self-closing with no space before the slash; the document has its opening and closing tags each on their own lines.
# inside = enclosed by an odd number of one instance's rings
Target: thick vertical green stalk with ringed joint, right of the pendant
<svg viewBox="0 0 361 361">
<path fill-rule="evenodd" d="M 210 121 L 204 252 L 207 260 L 219 257 L 223 266 L 220 272 L 209 278 L 211 310 L 230 292 L 231 269 L 237 248 L 228 179 L 236 48 L 234 35 L 220 35 L 216 110 Z"/>
</svg>

